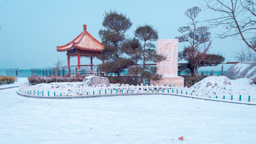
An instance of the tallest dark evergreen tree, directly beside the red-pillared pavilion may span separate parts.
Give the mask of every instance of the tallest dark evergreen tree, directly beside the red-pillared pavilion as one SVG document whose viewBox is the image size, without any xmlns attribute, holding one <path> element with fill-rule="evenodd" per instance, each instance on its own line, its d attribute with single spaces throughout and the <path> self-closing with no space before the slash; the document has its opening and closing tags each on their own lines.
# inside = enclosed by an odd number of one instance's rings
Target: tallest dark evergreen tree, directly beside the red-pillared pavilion
<svg viewBox="0 0 256 144">
<path fill-rule="evenodd" d="M 122 43 L 126 40 L 126 32 L 131 28 L 132 22 L 123 13 L 117 11 L 105 12 L 102 22 L 103 29 L 99 31 L 104 49 L 102 55 L 97 58 L 105 60 L 99 65 L 102 72 L 113 72 L 120 77 L 120 73 L 132 65 L 132 60 L 128 59 L 121 49 Z"/>
</svg>

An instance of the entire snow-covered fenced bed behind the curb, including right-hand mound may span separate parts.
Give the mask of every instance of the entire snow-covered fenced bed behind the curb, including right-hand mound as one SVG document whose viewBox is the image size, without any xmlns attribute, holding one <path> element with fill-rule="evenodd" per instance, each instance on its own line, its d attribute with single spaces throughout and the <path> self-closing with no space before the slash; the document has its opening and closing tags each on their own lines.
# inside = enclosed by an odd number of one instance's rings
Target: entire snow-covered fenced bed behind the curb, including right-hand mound
<svg viewBox="0 0 256 144">
<path fill-rule="evenodd" d="M 185 96 L 196 96 L 205 99 L 215 99 L 218 101 L 234 101 L 240 103 L 256 104 L 256 85 L 251 79 L 228 79 L 228 77 L 206 77 L 193 85 L 186 87 L 166 87 L 166 86 L 129 86 L 121 84 L 98 84 L 88 86 L 83 82 L 53 82 L 50 84 L 30 84 L 19 85 L 20 94 L 31 96 L 53 96 L 70 98 L 72 96 L 92 96 L 108 94 L 182 94 Z M 50 97 L 49 97 L 50 96 Z"/>
</svg>

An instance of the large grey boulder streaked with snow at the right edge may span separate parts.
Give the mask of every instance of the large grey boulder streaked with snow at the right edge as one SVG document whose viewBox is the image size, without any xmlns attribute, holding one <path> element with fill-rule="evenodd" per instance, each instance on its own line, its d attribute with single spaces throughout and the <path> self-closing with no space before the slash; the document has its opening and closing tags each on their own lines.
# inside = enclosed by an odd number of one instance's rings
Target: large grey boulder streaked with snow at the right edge
<svg viewBox="0 0 256 144">
<path fill-rule="evenodd" d="M 232 65 L 225 76 L 229 79 L 247 78 L 256 82 L 256 62 L 239 62 Z"/>
</svg>

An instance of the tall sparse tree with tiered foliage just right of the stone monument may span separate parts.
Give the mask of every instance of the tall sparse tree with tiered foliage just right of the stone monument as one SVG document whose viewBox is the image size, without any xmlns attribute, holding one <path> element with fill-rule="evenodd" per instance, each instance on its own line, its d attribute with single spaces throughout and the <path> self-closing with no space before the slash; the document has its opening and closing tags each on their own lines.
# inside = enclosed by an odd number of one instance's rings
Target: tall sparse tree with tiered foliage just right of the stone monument
<svg viewBox="0 0 256 144">
<path fill-rule="evenodd" d="M 178 53 L 179 60 L 186 60 L 188 64 L 180 67 L 183 70 L 189 70 L 191 74 L 198 75 L 198 68 L 203 66 L 218 65 L 225 59 L 222 55 L 209 54 L 211 45 L 210 32 L 207 26 L 199 26 L 196 17 L 201 9 L 193 7 L 185 12 L 185 15 L 191 19 L 189 26 L 178 28 L 182 34 L 178 36 L 178 41 L 186 43 L 183 51 Z"/>
</svg>

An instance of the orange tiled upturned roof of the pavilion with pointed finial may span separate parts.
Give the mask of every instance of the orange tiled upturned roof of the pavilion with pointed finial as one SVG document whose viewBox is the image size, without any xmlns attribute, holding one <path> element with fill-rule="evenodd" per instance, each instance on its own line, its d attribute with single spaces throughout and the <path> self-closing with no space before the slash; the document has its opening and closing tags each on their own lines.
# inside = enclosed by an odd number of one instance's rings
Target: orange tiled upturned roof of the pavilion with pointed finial
<svg viewBox="0 0 256 144">
<path fill-rule="evenodd" d="M 64 52 L 73 48 L 78 48 L 80 50 L 101 51 L 104 46 L 86 31 L 86 25 L 84 25 L 84 31 L 82 31 L 77 38 L 72 40 L 67 45 L 57 46 L 57 51 Z"/>
</svg>

